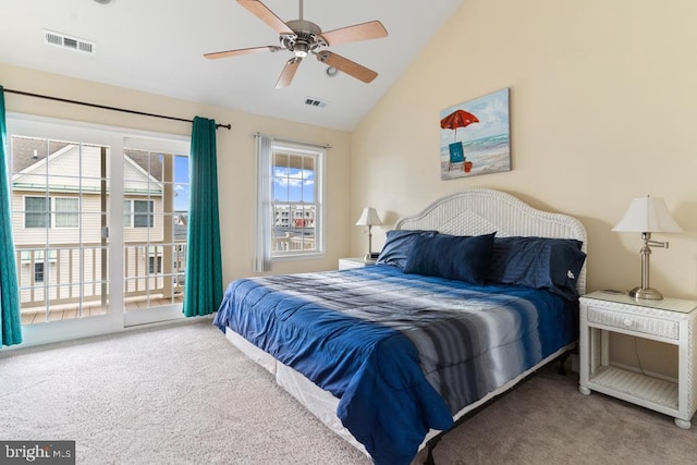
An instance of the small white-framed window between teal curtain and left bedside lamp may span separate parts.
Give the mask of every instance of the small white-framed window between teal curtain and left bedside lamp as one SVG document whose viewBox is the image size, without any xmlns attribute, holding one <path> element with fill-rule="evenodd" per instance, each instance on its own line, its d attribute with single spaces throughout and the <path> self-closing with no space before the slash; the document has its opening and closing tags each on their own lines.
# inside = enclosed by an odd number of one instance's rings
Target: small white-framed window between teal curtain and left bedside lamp
<svg viewBox="0 0 697 465">
<path fill-rule="evenodd" d="M 259 178 L 270 201 L 259 208 L 269 219 L 268 248 L 272 259 L 301 257 L 323 252 L 322 164 L 325 150 L 315 146 L 270 144 L 269 170 Z M 265 208 L 264 205 L 267 207 Z"/>
</svg>

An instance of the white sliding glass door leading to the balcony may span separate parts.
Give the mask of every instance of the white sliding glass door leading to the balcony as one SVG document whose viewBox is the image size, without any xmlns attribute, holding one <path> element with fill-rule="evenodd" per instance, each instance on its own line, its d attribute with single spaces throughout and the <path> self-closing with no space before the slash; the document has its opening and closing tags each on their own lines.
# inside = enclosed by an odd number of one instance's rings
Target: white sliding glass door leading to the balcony
<svg viewBox="0 0 697 465">
<path fill-rule="evenodd" d="M 180 318 L 188 142 L 12 113 L 8 129 L 25 342 Z"/>
</svg>

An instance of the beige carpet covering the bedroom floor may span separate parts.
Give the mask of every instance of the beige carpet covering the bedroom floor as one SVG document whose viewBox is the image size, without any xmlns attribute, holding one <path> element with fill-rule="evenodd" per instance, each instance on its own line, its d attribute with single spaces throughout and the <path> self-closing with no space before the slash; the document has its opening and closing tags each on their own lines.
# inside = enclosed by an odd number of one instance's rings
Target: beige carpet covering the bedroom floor
<svg viewBox="0 0 697 465">
<path fill-rule="evenodd" d="M 539 372 L 449 432 L 436 463 L 697 462 L 697 427 L 576 387 Z M 78 464 L 370 464 L 209 319 L 0 351 L 0 439 L 75 440 Z"/>
</svg>

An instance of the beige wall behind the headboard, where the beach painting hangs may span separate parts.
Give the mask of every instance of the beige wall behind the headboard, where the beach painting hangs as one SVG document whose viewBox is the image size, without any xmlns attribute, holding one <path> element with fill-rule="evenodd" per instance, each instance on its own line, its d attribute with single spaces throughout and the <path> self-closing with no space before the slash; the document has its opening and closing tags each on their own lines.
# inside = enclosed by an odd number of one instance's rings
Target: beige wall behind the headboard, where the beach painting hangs
<svg viewBox="0 0 697 465">
<path fill-rule="evenodd" d="M 579 218 L 588 290 L 631 289 L 640 237 L 611 229 L 650 194 L 686 231 L 655 234 L 670 248 L 655 249 L 651 285 L 697 298 L 695 17 L 693 0 L 465 0 L 352 134 L 353 215 L 370 205 L 389 223 L 374 229 L 374 248 L 432 199 L 492 187 Z M 513 170 L 440 181 L 440 110 L 504 87 Z M 354 253 L 365 242 L 354 231 Z M 635 363 L 632 342 L 615 347 Z M 674 360 L 652 365 L 674 372 Z"/>
</svg>

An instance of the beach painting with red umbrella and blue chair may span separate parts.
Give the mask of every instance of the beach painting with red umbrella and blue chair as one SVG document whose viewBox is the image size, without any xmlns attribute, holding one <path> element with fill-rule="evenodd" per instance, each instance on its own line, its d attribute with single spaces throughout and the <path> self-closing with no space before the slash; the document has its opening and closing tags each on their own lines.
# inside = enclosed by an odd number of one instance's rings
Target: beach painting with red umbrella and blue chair
<svg viewBox="0 0 697 465">
<path fill-rule="evenodd" d="M 511 171 L 509 88 L 440 112 L 440 179 Z"/>
</svg>

